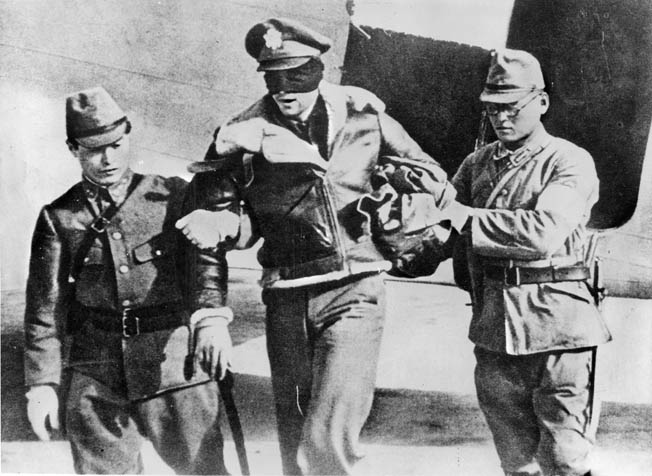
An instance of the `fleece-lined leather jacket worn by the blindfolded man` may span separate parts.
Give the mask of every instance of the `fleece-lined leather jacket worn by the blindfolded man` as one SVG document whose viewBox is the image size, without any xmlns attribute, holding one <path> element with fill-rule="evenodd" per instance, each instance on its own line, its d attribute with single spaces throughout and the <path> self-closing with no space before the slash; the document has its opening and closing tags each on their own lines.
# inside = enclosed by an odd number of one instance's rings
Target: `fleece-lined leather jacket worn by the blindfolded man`
<svg viewBox="0 0 652 476">
<path fill-rule="evenodd" d="M 207 153 L 208 160 L 219 160 L 225 146 L 221 137 L 238 124 L 273 125 L 294 133 L 284 136 L 280 147 L 273 143 L 278 137 L 263 134 L 260 153 L 222 154 L 219 176 L 226 179 L 219 187 L 235 190 L 233 199 L 246 204 L 254 229 L 265 239 L 258 256 L 264 285 L 296 286 L 388 269 L 369 223 L 356 210 L 360 197 L 373 190 L 379 158 L 393 156 L 407 167 L 427 171 L 442 184 L 437 203 L 446 188 L 446 173 L 373 94 L 322 82 L 315 105 L 319 109 L 325 119 L 310 137 L 302 137 L 267 95 L 222 126 Z M 291 159 L 311 153 L 309 147 L 328 161 L 325 171 L 292 160 L 274 163 L 268 154 L 280 149 Z M 450 185 L 449 192 L 454 196 Z"/>
</svg>

